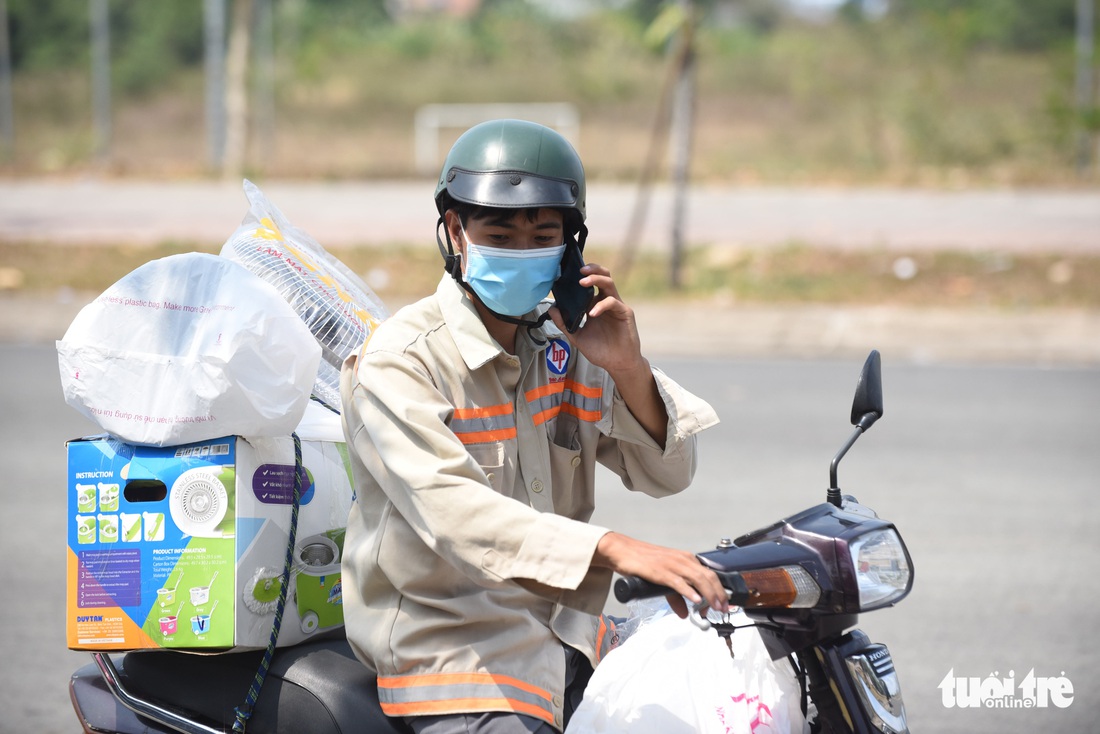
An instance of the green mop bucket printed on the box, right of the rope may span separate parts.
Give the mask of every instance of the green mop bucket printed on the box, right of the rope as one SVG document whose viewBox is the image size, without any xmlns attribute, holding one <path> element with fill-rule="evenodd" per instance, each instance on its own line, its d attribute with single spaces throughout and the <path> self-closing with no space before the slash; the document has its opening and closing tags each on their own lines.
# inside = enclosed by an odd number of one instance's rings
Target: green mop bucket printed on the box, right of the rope
<svg viewBox="0 0 1100 734">
<path fill-rule="evenodd" d="M 340 546 L 328 535 L 310 536 L 295 548 L 294 598 L 306 634 L 343 624 Z"/>
</svg>

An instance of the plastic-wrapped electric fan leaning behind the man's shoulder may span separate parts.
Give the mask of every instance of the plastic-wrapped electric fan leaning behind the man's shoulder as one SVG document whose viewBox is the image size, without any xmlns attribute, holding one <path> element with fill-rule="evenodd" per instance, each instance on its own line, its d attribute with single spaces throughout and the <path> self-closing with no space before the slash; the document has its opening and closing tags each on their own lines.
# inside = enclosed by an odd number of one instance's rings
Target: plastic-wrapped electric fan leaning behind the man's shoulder
<svg viewBox="0 0 1100 734">
<path fill-rule="evenodd" d="M 287 221 L 245 179 L 249 213 L 221 249 L 267 281 L 301 317 L 321 346 L 314 396 L 340 407 L 340 365 L 389 316 L 370 286 L 305 231 Z"/>
</svg>

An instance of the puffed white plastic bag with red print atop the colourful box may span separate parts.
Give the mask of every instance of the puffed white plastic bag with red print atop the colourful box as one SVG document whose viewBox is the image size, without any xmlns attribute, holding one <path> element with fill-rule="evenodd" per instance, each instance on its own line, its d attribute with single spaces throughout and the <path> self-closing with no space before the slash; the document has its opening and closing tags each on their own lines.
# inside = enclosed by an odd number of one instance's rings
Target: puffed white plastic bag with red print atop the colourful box
<svg viewBox="0 0 1100 734">
<path fill-rule="evenodd" d="M 142 265 L 57 342 L 65 402 L 147 446 L 292 432 L 320 351 L 275 288 L 202 253 Z"/>
</svg>

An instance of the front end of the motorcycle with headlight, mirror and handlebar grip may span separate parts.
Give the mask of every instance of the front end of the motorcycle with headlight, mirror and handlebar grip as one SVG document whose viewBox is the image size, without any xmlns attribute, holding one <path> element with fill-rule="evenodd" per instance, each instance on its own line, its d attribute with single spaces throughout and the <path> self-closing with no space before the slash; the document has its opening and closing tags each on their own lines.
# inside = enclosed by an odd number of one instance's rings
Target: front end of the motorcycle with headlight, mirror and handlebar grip
<svg viewBox="0 0 1100 734">
<path fill-rule="evenodd" d="M 829 464 L 826 501 L 697 554 L 718 574 L 729 603 L 754 621 L 772 660 L 790 660 L 815 734 L 909 732 L 890 650 L 854 627 L 860 613 L 909 594 L 913 561 L 898 528 L 837 484 L 840 460 L 882 413 L 881 358 L 872 351 L 853 401 L 855 430 Z M 668 591 L 636 577 L 615 583 L 620 602 Z M 710 626 L 698 614 L 691 620 Z M 736 633 L 728 624 L 714 627 L 723 636 Z"/>
</svg>

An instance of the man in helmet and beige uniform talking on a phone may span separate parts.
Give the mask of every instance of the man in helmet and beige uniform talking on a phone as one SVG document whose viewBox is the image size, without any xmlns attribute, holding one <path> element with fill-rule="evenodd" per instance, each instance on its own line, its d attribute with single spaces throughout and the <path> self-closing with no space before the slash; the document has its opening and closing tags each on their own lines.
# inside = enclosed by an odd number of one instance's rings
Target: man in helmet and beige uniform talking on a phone
<svg viewBox="0 0 1100 734">
<path fill-rule="evenodd" d="M 613 571 L 673 590 L 681 615 L 681 595 L 728 609 L 693 554 L 587 523 L 597 461 L 631 490 L 679 492 L 717 417 L 650 366 L 607 269 L 563 273 L 586 229 L 560 134 L 472 128 L 436 202 L 447 274 L 343 366 L 348 638 L 383 711 L 418 734 L 560 731 L 613 645 Z M 595 295 L 566 324 L 578 286 Z"/>
</svg>

